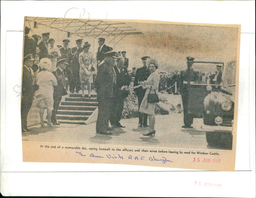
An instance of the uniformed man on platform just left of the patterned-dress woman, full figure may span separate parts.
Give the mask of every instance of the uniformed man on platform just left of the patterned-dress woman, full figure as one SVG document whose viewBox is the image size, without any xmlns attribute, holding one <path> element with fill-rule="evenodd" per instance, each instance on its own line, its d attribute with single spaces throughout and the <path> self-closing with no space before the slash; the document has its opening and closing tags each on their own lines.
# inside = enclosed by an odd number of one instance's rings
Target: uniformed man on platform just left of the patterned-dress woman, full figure
<svg viewBox="0 0 256 198">
<path fill-rule="evenodd" d="M 81 83 L 79 78 L 80 64 L 79 64 L 79 54 L 84 50 L 82 45 L 83 39 L 76 40 L 76 47 L 73 47 L 69 53 L 70 60 L 70 75 L 69 75 L 69 91 L 74 93 L 76 89 L 76 93 L 79 92 Z"/>
</svg>

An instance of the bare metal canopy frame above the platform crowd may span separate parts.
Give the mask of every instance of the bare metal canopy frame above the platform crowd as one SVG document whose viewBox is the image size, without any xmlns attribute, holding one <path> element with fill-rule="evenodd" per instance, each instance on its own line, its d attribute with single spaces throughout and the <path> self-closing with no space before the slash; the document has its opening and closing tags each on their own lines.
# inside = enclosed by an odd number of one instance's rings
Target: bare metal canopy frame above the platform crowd
<svg viewBox="0 0 256 198">
<path fill-rule="evenodd" d="M 143 34 L 131 26 L 123 22 L 108 22 L 104 20 L 90 20 L 90 19 L 66 19 L 66 18 L 46 18 L 46 17 L 26 17 L 26 21 L 48 26 L 48 28 L 58 29 L 63 32 L 69 32 L 81 38 L 99 37 L 107 38 L 110 42 L 114 41 L 114 45 L 120 42 L 127 35 Z M 31 24 L 33 26 L 33 24 Z M 30 25 L 30 27 L 31 27 Z M 31 28 L 32 29 L 32 28 Z"/>
</svg>

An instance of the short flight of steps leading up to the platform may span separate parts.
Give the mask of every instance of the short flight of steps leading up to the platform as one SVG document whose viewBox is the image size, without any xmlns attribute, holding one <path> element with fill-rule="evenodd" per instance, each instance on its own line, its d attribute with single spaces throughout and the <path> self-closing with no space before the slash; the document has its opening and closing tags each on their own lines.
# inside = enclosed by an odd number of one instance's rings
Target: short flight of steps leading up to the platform
<svg viewBox="0 0 256 198">
<path fill-rule="evenodd" d="M 57 111 L 57 121 L 68 124 L 84 124 L 98 106 L 97 95 L 91 94 L 92 98 L 85 94 L 71 93 L 63 98 Z"/>
</svg>

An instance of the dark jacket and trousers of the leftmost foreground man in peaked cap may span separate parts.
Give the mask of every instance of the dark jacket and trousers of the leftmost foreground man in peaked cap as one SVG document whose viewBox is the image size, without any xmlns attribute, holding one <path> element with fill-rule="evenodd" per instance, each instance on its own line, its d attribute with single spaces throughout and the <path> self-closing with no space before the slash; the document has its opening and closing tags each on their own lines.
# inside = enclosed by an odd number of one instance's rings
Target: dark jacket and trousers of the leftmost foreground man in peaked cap
<svg viewBox="0 0 256 198">
<path fill-rule="evenodd" d="M 22 97 L 21 97 L 21 128 L 26 129 L 28 112 L 32 106 L 34 89 L 33 78 L 31 72 L 23 66 L 22 72 Z"/>
</svg>

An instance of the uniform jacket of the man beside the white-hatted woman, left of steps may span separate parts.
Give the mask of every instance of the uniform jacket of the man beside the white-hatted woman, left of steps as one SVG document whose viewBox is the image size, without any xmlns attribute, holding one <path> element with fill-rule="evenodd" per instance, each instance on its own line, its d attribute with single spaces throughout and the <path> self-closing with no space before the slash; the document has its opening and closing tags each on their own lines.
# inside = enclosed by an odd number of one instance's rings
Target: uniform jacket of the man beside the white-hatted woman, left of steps
<svg viewBox="0 0 256 198">
<path fill-rule="evenodd" d="M 53 70 L 52 74 L 55 75 L 55 78 L 57 79 L 57 86 L 53 86 L 54 92 L 53 96 L 54 97 L 62 97 L 67 95 L 67 91 L 64 88 L 64 73 L 63 71 L 60 71 L 59 67 L 56 67 L 56 69 Z"/>
</svg>

